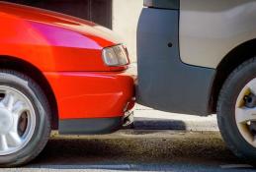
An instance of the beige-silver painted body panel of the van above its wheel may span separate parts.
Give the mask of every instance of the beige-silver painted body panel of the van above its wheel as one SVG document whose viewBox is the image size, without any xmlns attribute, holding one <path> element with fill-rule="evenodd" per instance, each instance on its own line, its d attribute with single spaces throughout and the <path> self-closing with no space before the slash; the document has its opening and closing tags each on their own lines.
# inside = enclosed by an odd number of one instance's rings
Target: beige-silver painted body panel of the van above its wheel
<svg viewBox="0 0 256 172">
<path fill-rule="evenodd" d="M 184 63 L 216 68 L 233 48 L 256 38 L 256 0 L 180 0 Z"/>
</svg>

